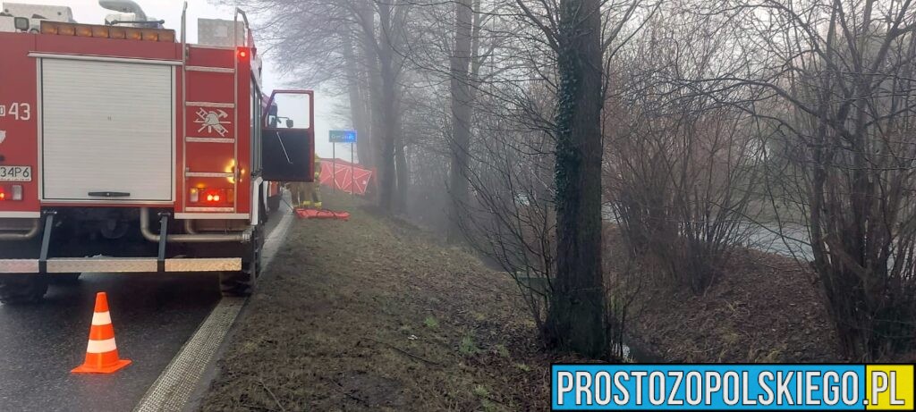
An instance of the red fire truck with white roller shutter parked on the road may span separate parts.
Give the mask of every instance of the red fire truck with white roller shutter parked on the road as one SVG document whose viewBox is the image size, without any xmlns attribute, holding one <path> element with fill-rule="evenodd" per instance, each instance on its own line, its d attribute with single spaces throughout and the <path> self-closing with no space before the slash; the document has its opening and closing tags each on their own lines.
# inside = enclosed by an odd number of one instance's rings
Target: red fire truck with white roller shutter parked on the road
<svg viewBox="0 0 916 412">
<path fill-rule="evenodd" d="M 81 273 L 218 272 L 250 294 L 270 182 L 313 176 L 313 93 L 262 103 L 241 10 L 191 44 L 185 13 L 177 38 L 132 1 L 99 3 L 118 13 L 104 25 L 0 16 L 0 300 Z M 278 121 L 284 94 L 307 121 Z"/>
</svg>

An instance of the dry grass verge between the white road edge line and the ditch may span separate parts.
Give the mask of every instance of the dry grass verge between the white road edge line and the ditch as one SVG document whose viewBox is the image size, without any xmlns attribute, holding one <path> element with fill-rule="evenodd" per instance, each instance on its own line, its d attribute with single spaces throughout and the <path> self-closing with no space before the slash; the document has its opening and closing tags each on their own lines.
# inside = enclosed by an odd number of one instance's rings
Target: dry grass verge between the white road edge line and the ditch
<svg viewBox="0 0 916 412">
<path fill-rule="evenodd" d="M 549 408 L 551 360 L 508 276 L 325 203 L 353 217 L 294 223 L 203 410 Z"/>
</svg>

